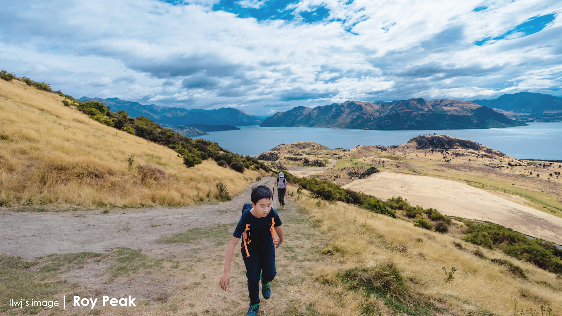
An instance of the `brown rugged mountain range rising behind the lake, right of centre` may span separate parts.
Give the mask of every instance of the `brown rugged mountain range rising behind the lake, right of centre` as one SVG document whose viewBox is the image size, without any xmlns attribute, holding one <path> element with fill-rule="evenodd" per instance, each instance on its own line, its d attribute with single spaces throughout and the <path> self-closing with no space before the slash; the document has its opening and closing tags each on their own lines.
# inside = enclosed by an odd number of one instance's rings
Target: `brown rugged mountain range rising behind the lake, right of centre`
<svg viewBox="0 0 562 316">
<path fill-rule="evenodd" d="M 379 130 L 476 129 L 527 125 L 477 103 L 422 98 L 392 102 L 346 101 L 277 112 L 261 127 L 327 127 Z"/>
</svg>

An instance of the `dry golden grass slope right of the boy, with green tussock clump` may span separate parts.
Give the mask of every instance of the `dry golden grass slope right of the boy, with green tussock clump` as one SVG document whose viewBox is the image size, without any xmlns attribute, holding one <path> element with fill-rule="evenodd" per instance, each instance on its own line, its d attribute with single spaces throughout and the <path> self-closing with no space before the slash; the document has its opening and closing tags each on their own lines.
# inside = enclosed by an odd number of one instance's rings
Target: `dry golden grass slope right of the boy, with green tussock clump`
<svg viewBox="0 0 562 316">
<path fill-rule="evenodd" d="M 301 286 L 301 304 L 318 314 L 513 315 L 516 301 L 525 315 L 531 309 L 540 313 L 541 305 L 562 314 L 562 279 L 556 274 L 406 220 L 317 201 L 296 200 L 327 243 L 321 252 L 333 260 L 314 269 L 315 282 Z M 456 267 L 450 282 L 442 267 Z"/>
</svg>

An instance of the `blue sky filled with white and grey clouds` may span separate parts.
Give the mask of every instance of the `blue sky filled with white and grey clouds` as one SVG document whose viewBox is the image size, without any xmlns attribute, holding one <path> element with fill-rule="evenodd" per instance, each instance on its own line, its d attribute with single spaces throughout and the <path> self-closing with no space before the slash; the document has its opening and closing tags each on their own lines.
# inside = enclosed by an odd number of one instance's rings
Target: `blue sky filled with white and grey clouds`
<svg viewBox="0 0 562 316">
<path fill-rule="evenodd" d="M 269 115 L 561 96 L 562 2 L 0 0 L 0 68 L 74 97 Z"/>
</svg>

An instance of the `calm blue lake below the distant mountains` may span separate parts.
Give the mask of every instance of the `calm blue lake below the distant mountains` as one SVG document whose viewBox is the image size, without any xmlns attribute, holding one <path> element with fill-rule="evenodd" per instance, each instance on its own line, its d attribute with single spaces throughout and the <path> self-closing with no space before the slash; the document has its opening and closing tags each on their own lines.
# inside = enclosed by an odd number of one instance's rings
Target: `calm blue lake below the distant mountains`
<svg viewBox="0 0 562 316">
<path fill-rule="evenodd" d="M 357 145 L 400 145 L 423 134 L 447 134 L 471 139 L 519 159 L 562 160 L 562 122 L 490 129 L 368 130 L 306 127 L 246 126 L 239 130 L 210 132 L 205 138 L 242 155 L 255 156 L 282 144 L 316 142 L 329 148 Z"/>
</svg>

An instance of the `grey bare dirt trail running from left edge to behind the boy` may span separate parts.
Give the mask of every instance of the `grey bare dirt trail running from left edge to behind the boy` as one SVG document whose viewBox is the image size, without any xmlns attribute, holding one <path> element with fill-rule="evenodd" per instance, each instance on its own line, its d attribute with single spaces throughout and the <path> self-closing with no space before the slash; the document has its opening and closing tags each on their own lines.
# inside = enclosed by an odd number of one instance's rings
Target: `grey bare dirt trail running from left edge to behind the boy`
<svg viewBox="0 0 562 316">
<path fill-rule="evenodd" d="M 273 180 L 264 177 L 253 185 L 271 187 Z M 169 246 L 156 243 L 159 237 L 190 228 L 238 222 L 242 205 L 250 201 L 250 192 L 248 188 L 232 201 L 219 204 L 115 209 L 110 214 L 101 211 L 16 213 L 0 210 L 4 214 L 0 215 L 0 254 L 31 260 L 55 253 L 103 252 L 113 247 L 129 247 L 161 257 L 169 251 Z"/>
</svg>

